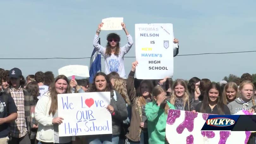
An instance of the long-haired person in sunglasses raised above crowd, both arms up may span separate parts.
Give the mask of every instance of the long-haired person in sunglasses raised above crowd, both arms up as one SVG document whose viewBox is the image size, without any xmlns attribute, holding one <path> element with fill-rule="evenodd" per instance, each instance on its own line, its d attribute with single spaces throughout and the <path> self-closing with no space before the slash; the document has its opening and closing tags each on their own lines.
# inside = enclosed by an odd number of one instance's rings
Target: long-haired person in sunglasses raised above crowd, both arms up
<svg viewBox="0 0 256 144">
<path fill-rule="evenodd" d="M 133 44 L 132 37 L 128 33 L 125 23 L 121 23 L 123 30 L 128 39 L 128 43 L 120 47 L 120 36 L 116 33 L 109 33 L 107 35 L 107 46 L 103 47 L 99 44 L 99 34 L 101 33 L 101 27 L 104 23 L 98 25 L 98 29 L 94 36 L 93 45 L 94 48 L 101 53 L 105 58 L 105 73 L 117 72 L 120 77 L 125 78 L 125 66 L 124 66 L 124 55 L 131 49 Z"/>
</svg>

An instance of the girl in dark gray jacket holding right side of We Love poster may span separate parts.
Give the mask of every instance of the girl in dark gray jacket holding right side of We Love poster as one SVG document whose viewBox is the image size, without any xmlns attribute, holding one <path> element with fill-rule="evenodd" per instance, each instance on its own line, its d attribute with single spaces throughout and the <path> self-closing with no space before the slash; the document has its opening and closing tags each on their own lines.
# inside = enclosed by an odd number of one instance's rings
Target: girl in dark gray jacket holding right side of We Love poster
<svg viewBox="0 0 256 144">
<path fill-rule="evenodd" d="M 107 110 L 112 115 L 112 135 L 90 135 L 87 136 L 89 144 L 95 143 L 119 143 L 119 135 L 121 132 L 121 123 L 127 119 L 128 112 L 124 98 L 117 91 L 113 90 L 111 82 L 107 79 L 105 73 L 97 73 L 94 76 L 92 85 L 88 92 L 110 92 L 110 105 Z"/>
</svg>

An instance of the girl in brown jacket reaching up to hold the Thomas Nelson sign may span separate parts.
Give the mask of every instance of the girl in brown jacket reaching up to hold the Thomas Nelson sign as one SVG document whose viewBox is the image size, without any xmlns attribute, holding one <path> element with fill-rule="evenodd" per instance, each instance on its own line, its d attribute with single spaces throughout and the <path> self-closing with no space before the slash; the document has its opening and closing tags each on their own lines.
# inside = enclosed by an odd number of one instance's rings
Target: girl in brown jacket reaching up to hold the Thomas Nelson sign
<svg viewBox="0 0 256 144">
<path fill-rule="evenodd" d="M 145 105 L 151 102 L 151 92 L 153 83 L 150 80 L 143 80 L 140 83 L 140 95 L 136 95 L 134 87 L 134 75 L 138 62 L 133 62 L 131 65 L 131 72 L 127 78 L 126 88 L 129 99 L 131 101 L 131 123 L 129 133 L 126 135 L 127 143 L 130 144 L 147 144 L 148 143 L 148 129 L 147 117 L 145 113 Z"/>
</svg>

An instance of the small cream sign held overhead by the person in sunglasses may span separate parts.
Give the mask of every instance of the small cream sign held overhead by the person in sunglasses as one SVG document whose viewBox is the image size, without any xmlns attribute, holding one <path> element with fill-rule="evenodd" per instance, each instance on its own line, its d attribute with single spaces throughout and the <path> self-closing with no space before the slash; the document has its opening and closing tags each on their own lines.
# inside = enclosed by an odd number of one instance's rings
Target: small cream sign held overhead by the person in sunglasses
<svg viewBox="0 0 256 144">
<path fill-rule="evenodd" d="M 106 19 L 102 19 L 103 27 L 101 30 L 122 30 L 123 27 L 121 23 L 124 21 L 123 17 L 110 17 Z"/>
</svg>

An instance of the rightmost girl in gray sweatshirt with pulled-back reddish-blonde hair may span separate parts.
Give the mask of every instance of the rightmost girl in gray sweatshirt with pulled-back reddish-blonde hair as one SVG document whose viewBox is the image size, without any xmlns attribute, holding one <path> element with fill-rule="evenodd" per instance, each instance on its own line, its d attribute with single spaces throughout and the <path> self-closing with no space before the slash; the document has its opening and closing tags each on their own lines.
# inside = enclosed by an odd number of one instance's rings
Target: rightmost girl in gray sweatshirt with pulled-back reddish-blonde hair
<svg viewBox="0 0 256 144">
<path fill-rule="evenodd" d="M 253 105 L 255 105 L 253 89 L 254 86 L 251 81 L 243 81 L 240 84 L 240 98 L 237 98 L 228 104 L 231 114 L 235 114 L 241 110 L 249 110 Z"/>
</svg>

